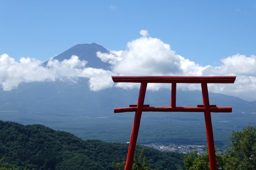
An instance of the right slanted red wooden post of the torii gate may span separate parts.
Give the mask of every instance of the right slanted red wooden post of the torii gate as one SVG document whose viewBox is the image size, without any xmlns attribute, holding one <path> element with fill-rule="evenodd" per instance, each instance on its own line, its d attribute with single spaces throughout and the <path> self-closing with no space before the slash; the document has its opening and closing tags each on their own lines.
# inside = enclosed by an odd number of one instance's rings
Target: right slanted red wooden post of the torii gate
<svg viewBox="0 0 256 170">
<path fill-rule="evenodd" d="M 212 132 L 212 120 L 211 120 L 211 111 L 210 111 L 210 103 L 208 96 L 208 88 L 206 83 L 201 84 L 202 94 L 203 94 L 203 103 L 204 103 L 204 120 L 206 126 L 206 137 L 208 144 L 208 152 L 209 152 L 209 162 L 211 170 L 217 170 L 216 157 L 215 157 L 215 148 L 214 148 L 214 139 Z"/>
</svg>

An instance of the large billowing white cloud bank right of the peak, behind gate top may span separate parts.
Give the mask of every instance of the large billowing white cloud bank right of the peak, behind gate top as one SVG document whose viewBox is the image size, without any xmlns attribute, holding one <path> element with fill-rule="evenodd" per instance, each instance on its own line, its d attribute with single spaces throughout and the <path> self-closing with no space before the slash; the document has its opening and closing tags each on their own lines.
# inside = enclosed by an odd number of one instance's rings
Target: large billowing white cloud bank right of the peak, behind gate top
<svg viewBox="0 0 256 170">
<path fill-rule="evenodd" d="M 116 75 L 180 75 L 180 76 L 218 76 L 236 75 L 234 84 L 209 84 L 209 91 L 256 100 L 256 56 L 236 54 L 221 59 L 221 65 L 201 66 L 177 55 L 170 45 L 159 38 L 149 37 L 147 30 L 141 30 L 142 37 L 128 42 L 126 50 L 120 52 L 112 72 Z M 100 54 L 104 55 L 104 53 Z M 107 55 L 107 54 L 106 54 Z M 106 57 L 107 58 L 107 57 Z M 117 83 L 116 87 L 139 87 L 136 83 Z M 179 84 L 183 90 L 201 90 L 200 85 Z M 148 89 L 170 88 L 165 84 L 150 84 Z"/>
</svg>

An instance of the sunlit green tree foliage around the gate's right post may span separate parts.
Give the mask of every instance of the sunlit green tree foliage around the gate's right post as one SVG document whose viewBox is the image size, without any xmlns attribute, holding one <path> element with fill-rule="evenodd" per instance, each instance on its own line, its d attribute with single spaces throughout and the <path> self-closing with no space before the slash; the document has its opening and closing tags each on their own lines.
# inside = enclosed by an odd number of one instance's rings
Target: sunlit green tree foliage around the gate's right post
<svg viewBox="0 0 256 170">
<path fill-rule="evenodd" d="M 256 126 L 243 128 L 242 132 L 233 131 L 230 136 L 231 147 L 222 156 L 216 155 L 219 170 L 256 170 Z M 186 170 L 210 170 L 208 152 L 199 156 L 190 153 L 184 159 Z"/>
</svg>

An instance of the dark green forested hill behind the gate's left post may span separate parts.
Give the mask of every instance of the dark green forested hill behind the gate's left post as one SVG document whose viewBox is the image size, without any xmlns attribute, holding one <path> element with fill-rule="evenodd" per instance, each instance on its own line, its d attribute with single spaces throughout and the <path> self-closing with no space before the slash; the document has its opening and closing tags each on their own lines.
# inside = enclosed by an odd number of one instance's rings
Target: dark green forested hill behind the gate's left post
<svg viewBox="0 0 256 170">
<path fill-rule="evenodd" d="M 137 147 L 141 150 L 142 146 Z M 22 125 L 0 120 L 0 158 L 9 164 L 40 170 L 107 170 L 126 158 L 127 144 L 82 140 L 43 125 Z M 177 170 L 183 154 L 145 147 L 151 168 Z"/>
</svg>

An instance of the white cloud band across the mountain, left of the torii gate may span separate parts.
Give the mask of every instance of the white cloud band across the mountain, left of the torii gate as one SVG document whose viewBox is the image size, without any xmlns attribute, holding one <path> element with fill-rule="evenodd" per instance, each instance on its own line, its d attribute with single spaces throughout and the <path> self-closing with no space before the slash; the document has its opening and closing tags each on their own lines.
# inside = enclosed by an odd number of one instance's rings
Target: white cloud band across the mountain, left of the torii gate
<svg viewBox="0 0 256 170">
<path fill-rule="evenodd" d="M 58 61 L 50 59 L 47 66 L 34 58 L 21 58 L 19 62 L 7 54 L 0 56 L 0 84 L 3 90 L 9 91 L 22 82 L 43 82 L 68 80 L 76 82 L 79 77 L 89 78 L 89 87 L 93 91 L 112 87 L 112 73 L 104 69 L 85 67 L 86 61 L 80 61 L 78 56 Z M 101 80 L 96 83 L 96 80 Z"/>
</svg>

